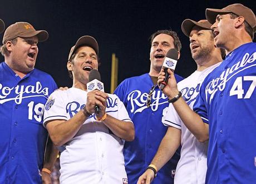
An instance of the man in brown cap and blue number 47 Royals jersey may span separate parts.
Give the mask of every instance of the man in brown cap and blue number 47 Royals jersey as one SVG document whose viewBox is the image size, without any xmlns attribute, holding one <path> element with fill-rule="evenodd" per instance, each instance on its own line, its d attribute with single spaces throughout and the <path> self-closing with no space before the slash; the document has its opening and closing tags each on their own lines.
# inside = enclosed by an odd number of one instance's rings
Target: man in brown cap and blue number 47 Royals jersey
<svg viewBox="0 0 256 184">
<path fill-rule="evenodd" d="M 197 114 L 186 111 L 181 119 L 196 137 L 209 136 L 206 183 L 255 183 L 255 14 L 231 4 L 206 9 L 206 18 L 213 24 L 216 46 L 227 56 L 201 85 L 193 108 Z"/>
</svg>

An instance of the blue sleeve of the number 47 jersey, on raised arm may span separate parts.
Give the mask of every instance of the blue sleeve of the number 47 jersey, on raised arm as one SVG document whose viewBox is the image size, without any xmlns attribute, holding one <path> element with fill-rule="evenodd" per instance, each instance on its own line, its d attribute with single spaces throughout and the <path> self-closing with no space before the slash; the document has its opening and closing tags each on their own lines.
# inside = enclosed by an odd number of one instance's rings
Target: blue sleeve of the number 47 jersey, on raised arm
<svg viewBox="0 0 256 184">
<path fill-rule="evenodd" d="M 201 119 L 206 123 L 209 124 L 207 109 L 205 105 L 205 92 L 203 85 L 200 88 L 200 93 L 196 96 L 195 104 L 193 106 L 193 110 L 197 113 Z"/>
</svg>

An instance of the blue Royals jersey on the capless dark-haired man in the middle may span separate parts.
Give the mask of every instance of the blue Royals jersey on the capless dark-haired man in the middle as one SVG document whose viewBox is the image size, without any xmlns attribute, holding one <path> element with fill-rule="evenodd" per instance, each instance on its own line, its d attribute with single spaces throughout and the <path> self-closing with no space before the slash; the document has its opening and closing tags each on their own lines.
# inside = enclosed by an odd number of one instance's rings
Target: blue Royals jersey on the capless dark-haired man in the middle
<svg viewBox="0 0 256 184">
<path fill-rule="evenodd" d="M 183 79 L 176 74 L 175 78 L 177 81 Z M 135 127 L 135 140 L 125 142 L 124 145 L 125 169 L 128 181 L 131 184 L 136 183 L 140 175 L 145 172 L 167 131 L 167 127 L 162 124 L 161 118 L 163 109 L 169 105 L 168 98 L 158 86 L 152 94 L 150 107 L 147 108 L 146 105 L 147 96 L 152 85 L 154 84 L 150 75 L 143 74 L 122 81 L 115 90 L 115 94 L 126 106 Z M 152 183 L 173 183 L 179 157 L 179 153 L 176 153 L 157 172 L 157 177 Z"/>
</svg>

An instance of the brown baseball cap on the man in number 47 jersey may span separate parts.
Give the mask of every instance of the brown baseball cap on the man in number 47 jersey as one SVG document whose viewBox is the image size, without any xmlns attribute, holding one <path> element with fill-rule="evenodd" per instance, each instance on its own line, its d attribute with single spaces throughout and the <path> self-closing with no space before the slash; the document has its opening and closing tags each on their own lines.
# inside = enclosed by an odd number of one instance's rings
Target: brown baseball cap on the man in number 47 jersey
<svg viewBox="0 0 256 184">
<path fill-rule="evenodd" d="M 216 16 L 219 13 L 234 13 L 238 16 L 244 17 L 245 21 L 253 28 L 254 32 L 256 31 L 256 18 L 252 9 L 243 6 L 243 4 L 230 4 L 229 6 L 222 9 L 212 9 L 206 8 L 205 16 L 206 19 L 213 24 L 215 22 Z"/>
</svg>

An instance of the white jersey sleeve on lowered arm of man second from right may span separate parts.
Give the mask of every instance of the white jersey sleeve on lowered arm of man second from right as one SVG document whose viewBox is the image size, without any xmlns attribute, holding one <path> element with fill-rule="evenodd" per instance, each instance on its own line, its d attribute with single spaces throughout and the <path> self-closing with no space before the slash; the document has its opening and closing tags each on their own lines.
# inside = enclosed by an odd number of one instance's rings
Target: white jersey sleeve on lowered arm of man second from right
<svg viewBox="0 0 256 184">
<path fill-rule="evenodd" d="M 167 108 L 163 110 L 162 122 L 165 126 L 173 126 L 176 129 L 181 130 L 181 119 L 176 110 L 174 109 L 173 104 L 169 104 Z"/>
</svg>

